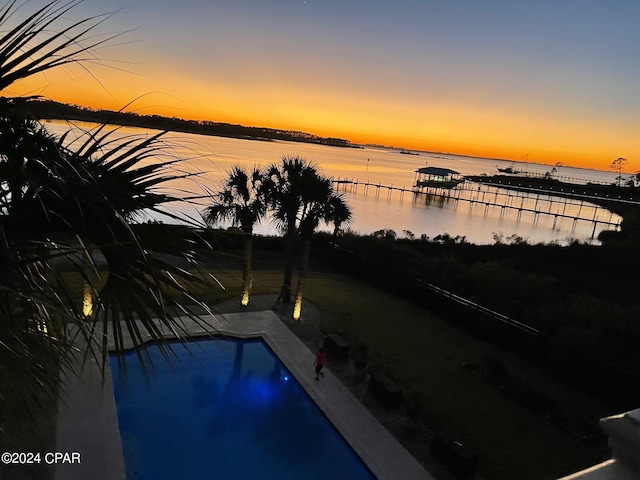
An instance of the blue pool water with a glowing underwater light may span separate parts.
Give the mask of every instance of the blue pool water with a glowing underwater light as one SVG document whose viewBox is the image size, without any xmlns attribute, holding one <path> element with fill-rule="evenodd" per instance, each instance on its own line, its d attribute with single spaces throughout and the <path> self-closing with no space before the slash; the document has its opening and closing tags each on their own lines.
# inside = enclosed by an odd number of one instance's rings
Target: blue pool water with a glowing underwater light
<svg viewBox="0 0 640 480">
<path fill-rule="evenodd" d="M 261 340 L 171 348 L 110 357 L 127 480 L 375 479 Z"/>
</svg>

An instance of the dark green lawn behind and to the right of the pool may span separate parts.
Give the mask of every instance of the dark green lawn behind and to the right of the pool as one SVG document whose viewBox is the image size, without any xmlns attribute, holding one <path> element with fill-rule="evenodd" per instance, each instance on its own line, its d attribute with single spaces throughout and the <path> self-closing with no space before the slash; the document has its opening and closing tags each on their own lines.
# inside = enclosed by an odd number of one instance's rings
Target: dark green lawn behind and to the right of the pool
<svg viewBox="0 0 640 480">
<path fill-rule="evenodd" d="M 201 292 L 208 302 L 238 295 L 239 271 L 215 275 L 227 290 Z M 274 293 L 282 274 L 257 271 L 253 277 L 253 294 Z M 347 275 L 311 273 L 305 297 L 320 310 L 325 333 L 337 332 L 351 343 L 362 340 L 369 346 L 375 363 L 420 404 L 428 427 L 453 430 L 471 443 L 487 480 L 555 479 L 609 458 L 606 442 L 586 444 L 561 432 L 543 415 L 489 385 L 473 366 L 487 355 L 497 358 L 567 413 L 594 420 L 617 413 L 539 368 Z"/>
</svg>

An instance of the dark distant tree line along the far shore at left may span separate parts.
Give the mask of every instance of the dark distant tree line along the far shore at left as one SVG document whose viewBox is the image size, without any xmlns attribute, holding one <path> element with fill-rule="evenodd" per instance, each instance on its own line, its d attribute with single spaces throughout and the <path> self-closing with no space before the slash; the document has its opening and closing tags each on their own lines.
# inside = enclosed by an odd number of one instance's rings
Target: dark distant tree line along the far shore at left
<svg viewBox="0 0 640 480">
<path fill-rule="evenodd" d="M 52 100 L 36 100 L 29 105 L 30 112 L 40 120 L 76 120 L 81 122 L 107 123 L 128 127 L 170 130 L 218 137 L 248 138 L 257 140 L 283 140 L 289 142 L 316 143 L 332 147 L 353 147 L 349 140 L 334 137 L 320 137 L 295 130 L 279 130 L 265 127 L 246 127 L 210 120 L 184 120 L 160 115 L 139 115 L 135 112 L 114 112 L 95 110 L 77 105 L 68 105 Z"/>
</svg>

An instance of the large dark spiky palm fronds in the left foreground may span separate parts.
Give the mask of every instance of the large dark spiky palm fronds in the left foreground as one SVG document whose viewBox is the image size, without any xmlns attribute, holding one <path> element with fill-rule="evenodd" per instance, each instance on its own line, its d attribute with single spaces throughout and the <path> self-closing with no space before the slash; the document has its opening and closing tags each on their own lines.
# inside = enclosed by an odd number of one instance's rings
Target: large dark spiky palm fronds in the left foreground
<svg viewBox="0 0 640 480">
<path fill-rule="evenodd" d="M 95 61 L 91 48 L 108 39 L 92 40 L 92 31 L 104 17 L 60 25 L 78 3 L 54 0 L 17 23 L 15 1 L 0 8 L 0 92 L 35 73 Z M 82 353 L 104 363 L 109 336 L 122 351 L 126 336 L 134 345 L 145 330 L 181 336 L 177 316 L 197 320 L 165 292 L 189 298 L 186 285 L 200 278 L 152 254 L 161 246 L 196 265 L 191 244 L 164 232 L 161 242 L 157 230 L 132 224 L 142 210 L 175 200 L 159 192 L 182 176 L 172 173 L 178 160 L 165 156 L 162 134 L 116 139 L 98 128 L 70 147 L 29 114 L 29 100 L 0 98 L 0 429 L 42 393 L 55 397 L 56 369 L 71 364 L 78 337 Z M 84 288 L 73 291 L 70 275 Z"/>
</svg>

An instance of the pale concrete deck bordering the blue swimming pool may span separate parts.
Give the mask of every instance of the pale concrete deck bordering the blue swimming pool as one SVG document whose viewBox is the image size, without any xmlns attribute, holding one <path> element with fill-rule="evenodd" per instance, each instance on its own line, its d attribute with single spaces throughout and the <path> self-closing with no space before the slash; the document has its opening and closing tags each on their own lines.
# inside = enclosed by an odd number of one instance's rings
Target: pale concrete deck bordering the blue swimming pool
<svg viewBox="0 0 640 480">
<path fill-rule="evenodd" d="M 379 480 L 432 480 L 422 465 L 331 373 L 315 380 L 315 354 L 272 311 L 203 316 L 205 328 L 182 319 L 192 336 L 214 332 L 239 338 L 261 337 Z M 151 337 L 149 336 L 149 339 Z M 58 417 L 59 452 L 79 452 L 80 464 L 56 466 L 56 480 L 124 480 L 120 433 L 109 365 L 104 383 L 95 361 L 69 382 Z"/>
</svg>

